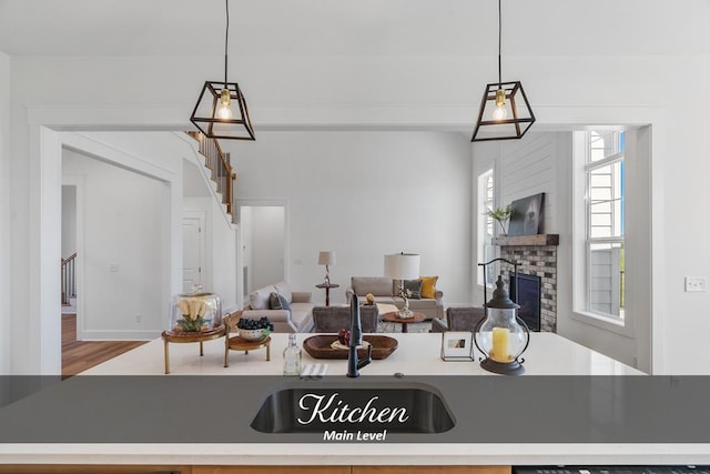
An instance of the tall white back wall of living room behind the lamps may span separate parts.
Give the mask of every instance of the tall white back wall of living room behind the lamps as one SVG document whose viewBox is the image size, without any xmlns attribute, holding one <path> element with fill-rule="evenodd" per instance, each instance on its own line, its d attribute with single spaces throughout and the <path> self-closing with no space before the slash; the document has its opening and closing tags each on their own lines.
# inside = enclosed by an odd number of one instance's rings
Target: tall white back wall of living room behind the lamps
<svg viewBox="0 0 710 474">
<path fill-rule="evenodd" d="M 447 304 L 470 301 L 470 144 L 446 132 L 262 132 L 232 153 L 240 199 L 288 202 L 290 280 L 324 294 L 318 251 L 337 254 L 334 303 L 351 276 L 383 275 L 384 255 L 416 252 Z"/>
</svg>

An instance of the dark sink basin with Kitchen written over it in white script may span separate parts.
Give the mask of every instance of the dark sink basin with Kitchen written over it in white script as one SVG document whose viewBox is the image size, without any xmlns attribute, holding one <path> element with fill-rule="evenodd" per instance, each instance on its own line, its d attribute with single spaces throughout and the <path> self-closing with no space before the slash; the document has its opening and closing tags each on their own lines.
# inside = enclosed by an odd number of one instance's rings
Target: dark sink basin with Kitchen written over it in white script
<svg viewBox="0 0 710 474">
<path fill-rule="evenodd" d="M 444 433 L 456 424 L 434 386 L 358 382 L 312 382 L 276 390 L 266 396 L 251 426 L 262 433 Z"/>
</svg>

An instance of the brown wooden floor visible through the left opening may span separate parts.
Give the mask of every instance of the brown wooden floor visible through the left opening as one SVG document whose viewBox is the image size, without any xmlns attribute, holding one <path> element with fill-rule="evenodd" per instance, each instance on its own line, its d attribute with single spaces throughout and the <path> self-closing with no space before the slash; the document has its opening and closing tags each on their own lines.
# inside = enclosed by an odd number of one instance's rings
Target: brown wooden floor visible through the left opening
<svg viewBox="0 0 710 474">
<path fill-rule="evenodd" d="M 145 344 L 145 341 L 77 341 L 77 315 L 62 314 L 62 376 L 89 367 Z"/>
</svg>

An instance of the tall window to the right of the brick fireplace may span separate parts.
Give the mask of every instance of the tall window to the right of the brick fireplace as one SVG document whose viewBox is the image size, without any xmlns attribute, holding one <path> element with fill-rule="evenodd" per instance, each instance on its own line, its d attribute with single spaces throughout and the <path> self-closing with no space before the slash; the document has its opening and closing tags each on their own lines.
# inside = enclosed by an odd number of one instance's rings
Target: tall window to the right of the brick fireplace
<svg viewBox="0 0 710 474">
<path fill-rule="evenodd" d="M 623 321 L 625 134 L 586 132 L 585 286 L 582 309 Z"/>
</svg>

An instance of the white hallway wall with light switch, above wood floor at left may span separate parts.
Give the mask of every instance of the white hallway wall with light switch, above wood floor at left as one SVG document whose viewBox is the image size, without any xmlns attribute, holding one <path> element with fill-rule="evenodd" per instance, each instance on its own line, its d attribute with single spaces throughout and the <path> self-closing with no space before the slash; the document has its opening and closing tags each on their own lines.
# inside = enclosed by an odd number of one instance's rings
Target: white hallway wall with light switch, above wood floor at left
<svg viewBox="0 0 710 474">
<path fill-rule="evenodd" d="M 70 150 L 62 165 L 84 182 L 77 337 L 152 339 L 168 317 L 168 184 Z"/>
</svg>

